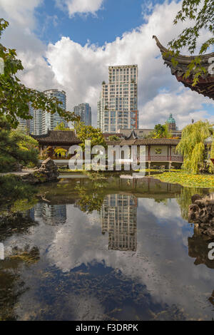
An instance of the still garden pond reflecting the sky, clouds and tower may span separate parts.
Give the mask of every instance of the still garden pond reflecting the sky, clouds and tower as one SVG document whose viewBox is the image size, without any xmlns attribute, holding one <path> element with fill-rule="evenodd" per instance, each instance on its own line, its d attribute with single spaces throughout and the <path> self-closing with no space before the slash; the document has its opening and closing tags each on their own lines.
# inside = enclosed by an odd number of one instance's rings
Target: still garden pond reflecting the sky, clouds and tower
<svg viewBox="0 0 214 335">
<path fill-rule="evenodd" d="M 0 320 L 213 318 L 210 239 L 187 221 L 208 189 L 70 175 L 37 191 L 1 213 Z"/>
</svg>

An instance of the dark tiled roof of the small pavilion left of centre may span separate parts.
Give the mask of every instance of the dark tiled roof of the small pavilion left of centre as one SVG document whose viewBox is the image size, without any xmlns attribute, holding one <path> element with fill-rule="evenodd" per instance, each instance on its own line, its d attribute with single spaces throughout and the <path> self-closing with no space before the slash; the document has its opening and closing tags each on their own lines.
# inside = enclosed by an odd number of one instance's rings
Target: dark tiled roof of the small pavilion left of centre
<svg viewBox="0 0 214 335">
<path fill-rule="evenodd" d="M 73 130 L 49 130 L 44 135 L 31 135 L 32 138 L 44 144 L 73 144 L 81 143 Z"/>
</svg>

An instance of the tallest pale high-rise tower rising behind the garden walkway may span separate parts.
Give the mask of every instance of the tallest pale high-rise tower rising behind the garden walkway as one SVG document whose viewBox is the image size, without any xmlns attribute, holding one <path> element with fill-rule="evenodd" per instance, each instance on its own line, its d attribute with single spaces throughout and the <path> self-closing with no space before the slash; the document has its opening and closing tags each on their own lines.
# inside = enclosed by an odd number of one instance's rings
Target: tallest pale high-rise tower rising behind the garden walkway
<svg viewBox="0 0 214 335">
<path fill-rule="evenodd" d="M 98 128 L 103 133 L 138 128 L 138 66 L 109 66 L 98 101 Z"/>
</svg>

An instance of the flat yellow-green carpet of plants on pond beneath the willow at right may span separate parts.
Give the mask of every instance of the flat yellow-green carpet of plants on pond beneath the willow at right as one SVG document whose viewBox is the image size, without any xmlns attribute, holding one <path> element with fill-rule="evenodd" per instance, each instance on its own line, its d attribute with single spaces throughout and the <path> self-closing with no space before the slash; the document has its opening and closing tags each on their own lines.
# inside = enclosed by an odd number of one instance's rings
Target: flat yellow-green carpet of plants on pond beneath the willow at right
<svg viewBox="0 0 214 335">
<path fill-rule="evenodd" d="M 185 187 L 214 187 L 214 175 L 190 175 L 188 172 L 163 172 L 161 175 L 153 175 L 153 178 L 161 182 L 180 184 Z"/>
</svg>

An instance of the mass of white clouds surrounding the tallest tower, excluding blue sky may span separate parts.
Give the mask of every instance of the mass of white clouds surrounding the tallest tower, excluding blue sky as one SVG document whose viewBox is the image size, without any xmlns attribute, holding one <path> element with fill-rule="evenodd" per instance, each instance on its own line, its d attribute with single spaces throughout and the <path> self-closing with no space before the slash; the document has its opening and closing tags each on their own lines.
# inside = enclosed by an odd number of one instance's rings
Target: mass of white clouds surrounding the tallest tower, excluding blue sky
<svg viewBox="0 0 214 335">
<path fill-rule="evenodd" d="M 89 5 L 85 6 L 89 1 L 66 1 L 72 5 L 70 11 L 89 11 Z M 66 1 L 60 2 L 66 4 Z M 163 4 L 156 4 L 147 14 L 144 24 L 124 32 L 121 38 L 118 37 L 103 46 L 89 42 L 82 46 L 65 36 L 46 46 L 33 33 L 31 26 L 26 29 L 16 18 L 16 12 L 29 13 L 29 17 L 35 22 L 34 11 L 42 1 L 33 0 L 29 5 L 27 1 L 13 0 L 12 12 L 7 2 L 0 0 L 0 9 L 4 8 L 6 19 L 11 17 L 11 26 L 6 29 L 2 43 L 17 48 L 25 68 L 23 73 L 19 73 L 21 80 L 27 86 L 39 90 L 63 89 L 67 93 L 68 110 L 72 110 L 78 103 L 90 103 L 93 125 L 96 125 L 96 104 L 101 83 L 108 82 L 108 66 L 123 64 L 138 64 L 138 110 L 141 127 L 152 128 L 156 123 L 164 123 L 169 113 L 173 113 L 179 128 L 190 123 L 192 118 L 208 118 L 205 104 L 210 107 L 213 100 L 184 88 L 176 81 L 170 69 L 163 64 L 160 51 L 152 38 L 157 35 L 161 43 L 167 46 L 168 41 L 182 31 L 183 24 L 173 26 L 173 18 L 180 9 L 179 3 L 171 1 L 169 4 L 165 1 Z M 90 10 L 95 12 L 101 3 L 98 0 L 90 1 Z M 202 31 L 201 41 L 205 41 L 206 37 Z"/>
</svg>

